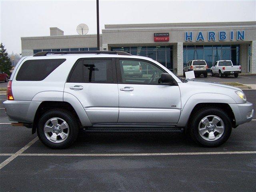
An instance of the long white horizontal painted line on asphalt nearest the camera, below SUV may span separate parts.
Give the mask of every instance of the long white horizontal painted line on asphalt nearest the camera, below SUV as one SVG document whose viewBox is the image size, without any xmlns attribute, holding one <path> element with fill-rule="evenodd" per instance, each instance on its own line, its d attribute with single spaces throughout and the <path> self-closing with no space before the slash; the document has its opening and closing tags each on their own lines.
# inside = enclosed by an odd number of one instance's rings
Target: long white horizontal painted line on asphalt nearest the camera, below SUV
<svg viewBox="0 0 256 192">
<path fill-rule="evenodd" d="M 218 155 L 218 154 L 256 154 L 256 151 L 228 152 L 189 152 L 189 153 L 99 153 L 99 154 L 64 154 L 64 153 L 22 153 L 20 156 L 173 156 L 173 155 Z"/>
</svg>

